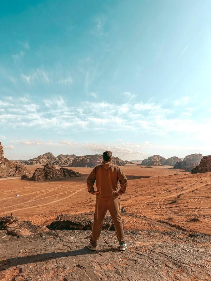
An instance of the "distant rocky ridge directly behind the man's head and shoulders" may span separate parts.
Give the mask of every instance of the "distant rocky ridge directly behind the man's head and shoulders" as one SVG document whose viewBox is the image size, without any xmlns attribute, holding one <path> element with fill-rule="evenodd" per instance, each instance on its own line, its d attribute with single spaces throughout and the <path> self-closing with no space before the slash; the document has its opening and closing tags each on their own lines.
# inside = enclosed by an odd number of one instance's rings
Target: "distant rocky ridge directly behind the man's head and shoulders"
<svg viewBox="0 0 211 281">
<path fill-rule="evenodd" d="M 73 159 L 73 167 L 95 167 L 102 163 L 102 155 L 95 154 L 95 155 L 85 155 L 85 156 L 76 156 Z M 133 164 L 129 161 L 124 161 L 119 159 L 118 157 L 112 157 L 112 161 L 114 165 L 117 166 L 124 166 L 126 164 Z"/>
</svg>

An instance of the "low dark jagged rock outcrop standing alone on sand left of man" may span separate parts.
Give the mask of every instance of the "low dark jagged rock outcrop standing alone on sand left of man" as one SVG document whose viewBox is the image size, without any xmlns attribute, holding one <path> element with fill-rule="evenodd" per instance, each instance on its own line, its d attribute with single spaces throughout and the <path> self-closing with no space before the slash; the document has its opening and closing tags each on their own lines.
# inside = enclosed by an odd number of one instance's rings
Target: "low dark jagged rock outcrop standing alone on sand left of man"
<svg viewBox="0 0 211 281">
<path fill-rule="evenodd" d="M 79 177 L 81 173 L 74 172 L 71 169 L 60 168 L 56 169 L 51 164 L 46 164 L 44 168 L 37 168 L 32 176 L 32 180 L 58 180 L 62 178 Z"/>
</svg>

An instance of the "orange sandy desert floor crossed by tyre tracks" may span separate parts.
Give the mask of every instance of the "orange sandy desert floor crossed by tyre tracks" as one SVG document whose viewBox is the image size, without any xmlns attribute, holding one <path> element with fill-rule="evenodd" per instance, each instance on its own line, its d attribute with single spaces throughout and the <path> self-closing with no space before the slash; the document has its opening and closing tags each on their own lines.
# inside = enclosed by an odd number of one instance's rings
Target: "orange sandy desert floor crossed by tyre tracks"
<svg viewBox="0 0 211 281">
<path fill-rule="evenodd" d="M 41 165 L 27 165 L 31 174 L 37 167 Z M 170 166 L 121 168 L 128 178 L 127 192 L 121 196 L 125 229 L 179 227 L 211 234 L 211 173 L 191 175 Z M 0 216 L 12 213 L 21 220 L 47 225 L 61 213 L 93 212 L 95 196 L 86 186 L 92 168 L 72 169 L 83 176 L 44 182 L 0 180 Z"/>
</svg>

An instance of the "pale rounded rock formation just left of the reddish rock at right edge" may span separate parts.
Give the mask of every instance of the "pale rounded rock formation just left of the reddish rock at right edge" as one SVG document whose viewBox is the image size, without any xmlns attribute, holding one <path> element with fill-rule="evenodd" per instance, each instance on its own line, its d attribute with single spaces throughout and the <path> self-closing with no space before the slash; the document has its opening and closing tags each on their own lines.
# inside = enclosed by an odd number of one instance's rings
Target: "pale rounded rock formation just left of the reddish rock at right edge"
<svg viewBox="0 0 211 281">
<path fill-rule="evenodd" d="M 195 153 L 195 154 L 190 154 L 185 156 L 183 161 L 176 162 L 174 165 L 174 169 L 185 169 L 185 171 L 191 171 L 193 170 L 196 166 L 199 165 L 202 155 L 200 153 Z"/>
</svg>

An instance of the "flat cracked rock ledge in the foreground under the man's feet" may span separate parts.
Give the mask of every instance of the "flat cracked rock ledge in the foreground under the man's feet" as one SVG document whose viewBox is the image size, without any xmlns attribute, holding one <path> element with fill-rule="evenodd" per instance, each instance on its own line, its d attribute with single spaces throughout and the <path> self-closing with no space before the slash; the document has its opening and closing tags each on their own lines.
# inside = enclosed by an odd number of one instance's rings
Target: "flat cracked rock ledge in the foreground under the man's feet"
<svg viewBox="0 0 211 281">
<path fill-rule="evenodd" d="M 3 230 L 4 231 L 4 230 Z M 0 280 L 211 280 L 211 236 L 159 230 L 125 231 L 126 251 L 114 231 L 102 231 L 97 251 L 91 231 L 0 235 Z"/>
</svg>

